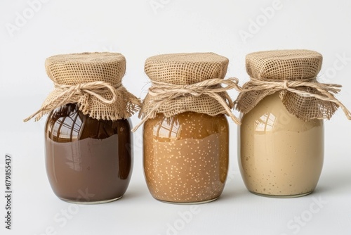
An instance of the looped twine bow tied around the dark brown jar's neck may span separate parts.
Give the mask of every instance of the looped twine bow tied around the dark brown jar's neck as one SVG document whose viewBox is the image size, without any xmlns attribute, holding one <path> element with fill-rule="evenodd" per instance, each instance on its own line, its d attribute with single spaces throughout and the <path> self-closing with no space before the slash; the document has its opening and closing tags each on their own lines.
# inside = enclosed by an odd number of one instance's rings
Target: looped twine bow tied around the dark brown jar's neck
<svg viewBox="0 0 351 235">
<path fill-rule="evenodd" d="M 37 112 L 33 113 L 23 121 L 27 122 L 34 118 L 34 116 L 37 116 L 35 120 L 38 121 L 45 113 L 51 112 L 51 110 L 65 105 L 67 101 L 71 100 L 72 97 L 77 94 L 81 95 L 79 103 L 85 106 L 88 106 L 89 96 L 95 96 L 95 98 L 99 99 L 102 103 L 114 103 L 117 101 L 117 91 L 121 87 L 121 83 L 114 87 L 110 83 L 102 81 L 88 82 L 77 85 L 55 84 L 55 89 L 60 91 L 60 94 L 56 96 L 54 100 L 46 103 L 39 110 L 37 110 Z M 106 92 L 110 92 L 112 94 L 111 100 L 105 99 L 101 96 L 101 94 L 105 94 Z"/>
</svg>

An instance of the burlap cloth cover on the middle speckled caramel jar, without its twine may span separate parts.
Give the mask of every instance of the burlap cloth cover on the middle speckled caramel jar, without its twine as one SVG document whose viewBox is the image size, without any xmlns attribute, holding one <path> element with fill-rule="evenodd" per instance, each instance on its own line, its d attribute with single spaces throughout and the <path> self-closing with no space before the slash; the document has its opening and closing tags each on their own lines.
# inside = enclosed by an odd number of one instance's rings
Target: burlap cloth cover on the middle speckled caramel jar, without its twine
<svg viewBox="0 0 351 235">
<path fill-rule="evenodd" d="M 171 53 L 147 58 L 145 73 L 152 81 L 152 87 L 143 101 L 139 118 L 154 118 L 157 113 L 169 118 L 187 111 L 208 115 L 227 114 L 225 106 L 234 107 L 227 91 L 223 89 L 217 93 L 220 99 L 225 101 L 223 106 L 218 99 L 206 95 L 205 90 L 222 89 L 220 82 L 224 83 L 228 62 L 227 58 L 216 53 Z M 208 86 L 205 84 L 207 81 Z M 228 84 L 236 85 L 232 80 L 228 81 Z M 204 92 L 199 93 L 196 87 L 201 87 L 201 91 Z M 152 91 L 156 89 L 164 89 L 165 93 L 170 91 L 170 94 L 166 95 L 168 98 L 162 100 L 159 107 L 159 98 L 152 95 Z M 187 90 L 184 95 L 172 99 L 172 94 L 177 94 L 182 89 Z"/>
</svg>

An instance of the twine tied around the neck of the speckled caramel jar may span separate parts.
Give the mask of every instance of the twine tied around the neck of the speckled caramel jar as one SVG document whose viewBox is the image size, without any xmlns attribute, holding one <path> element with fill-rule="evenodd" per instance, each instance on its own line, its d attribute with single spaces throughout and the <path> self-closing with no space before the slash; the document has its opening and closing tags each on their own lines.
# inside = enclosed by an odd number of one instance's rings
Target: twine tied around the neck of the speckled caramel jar
<svg viewBox="0 0 351 235">
<path fill-rule="evenodd" d="M 240 124 L 240 121 L 237 117 L 235 117 L 231 111 L 234 107 L 234 103 L 230 96 L 227 94 L 227 90 L 237 89 L 237 91 L 241 91 L 241 88 L 238 86 L 238 79 L 233 77 L 227 80 L 214 78 L 210 80 L 204 80 L 202 82 L 198 82 L 195 84 L 188 85 L 177 85 L 177 84 L 169 84 L 165 82 L 152 82 L 152 87 L 149 88 L 149 95 L 152 96 L 152 102 L 157 103 L 152 110 L 150 110 L 147 115 L 141 120 L 141 122 L 136 125 L 132 132 L 135 132 L 150 116 L 157 112 L 157 110 L 166 102 L 172 99 L 179 99 L 183 96 L 211 96 L 213 99 L 216 99 L 218 103 L 220 103 L 227 115 L 234 120 L 235 123 Z M 226 87 L 222 87 L 221 84 L 225 84 Z M 219 94 L 225 92 L 224 98 Z"/>
</svg>

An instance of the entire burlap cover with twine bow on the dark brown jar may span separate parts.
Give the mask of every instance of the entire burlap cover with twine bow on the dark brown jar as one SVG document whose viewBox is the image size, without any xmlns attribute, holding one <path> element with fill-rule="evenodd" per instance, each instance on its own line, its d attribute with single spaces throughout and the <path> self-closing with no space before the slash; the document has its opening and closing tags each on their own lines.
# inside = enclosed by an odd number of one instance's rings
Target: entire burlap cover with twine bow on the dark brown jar
<svg viewBox="0 0 351 235">
<path fill-rule="evenodd" d="M 121 53 L 95 52 L 51 56 L 46 73 L 55 84 L 41 109 L 25 121 L 67 103 L 77 103 L 84 115 L 98 120 L 129 118 L 140 110 L 141 102 L 121 84 L 126 59 Z"/>
</svg>

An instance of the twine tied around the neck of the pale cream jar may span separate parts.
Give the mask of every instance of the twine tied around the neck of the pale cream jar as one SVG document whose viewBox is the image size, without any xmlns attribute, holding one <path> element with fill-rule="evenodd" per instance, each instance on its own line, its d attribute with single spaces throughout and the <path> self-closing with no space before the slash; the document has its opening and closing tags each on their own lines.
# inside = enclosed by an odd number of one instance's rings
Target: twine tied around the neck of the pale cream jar
<svg viewBox="0 0 351 235">
<path fill-rule="evenodd" d="M 305 89 L 298 89 L 305 87 Z M 251 77 L 251 81 L 244 84 L 242 92 L 247 91 L 262 91 L 270 90 L 274 91 L 290 91 L 300 96 L 313 97 L 321 101 L 328 101 L 335 103 L 337 106 L 342 108 L 348 120 L 351 120 L 351 113 L 347 108 L 335 98 L 333 94 L 337 94 L 342 86 L 339 84 L 324 84 L 317 82 L 316 78 L 304 79 L 304 80 L 267 80 L 267 79 L 256 79 Z M 312 93 L 312 89 L 315 89 L 319 94 Z"/>
</svg>

